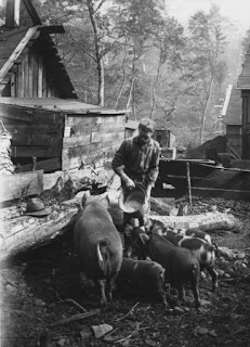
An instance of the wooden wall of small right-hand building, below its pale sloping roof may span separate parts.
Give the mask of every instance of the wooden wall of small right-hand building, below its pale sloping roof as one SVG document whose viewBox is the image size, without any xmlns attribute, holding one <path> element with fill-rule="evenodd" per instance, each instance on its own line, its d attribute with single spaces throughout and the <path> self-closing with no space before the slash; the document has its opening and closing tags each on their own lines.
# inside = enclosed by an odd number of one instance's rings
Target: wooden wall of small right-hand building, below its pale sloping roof
<svg viewBox="0 0 250 347">
<path fill-rule="evenodd" d="M 232 153 L 235 159 L 242 155 L 242 127 L 240 125 L 226 126 L 226 152 Z"/>
</svg>

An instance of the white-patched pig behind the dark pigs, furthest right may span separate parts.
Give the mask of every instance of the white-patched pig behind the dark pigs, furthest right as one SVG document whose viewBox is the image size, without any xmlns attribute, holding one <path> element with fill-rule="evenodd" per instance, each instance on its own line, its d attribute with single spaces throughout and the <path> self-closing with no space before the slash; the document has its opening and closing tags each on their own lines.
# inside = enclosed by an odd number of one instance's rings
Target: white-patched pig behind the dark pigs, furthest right
<svg viewBox="0 0 250 347">
<path fill-rule="evenodd" d="M 153 223 L 152 233 L 162 235 L 172 244 L 179 247 L 190 249 L 199 261 L 200 270 L 207 270 L 212 278 L 212 291 L 218 287 L 218 272 L 214 269 L 215 262 L 215 246 L 209 244 L 207 241 L 193 237 L 192 235 L 181 235 L 172 230 L 168 230 L 161 222 L 156 221 Z"/>
</svg>

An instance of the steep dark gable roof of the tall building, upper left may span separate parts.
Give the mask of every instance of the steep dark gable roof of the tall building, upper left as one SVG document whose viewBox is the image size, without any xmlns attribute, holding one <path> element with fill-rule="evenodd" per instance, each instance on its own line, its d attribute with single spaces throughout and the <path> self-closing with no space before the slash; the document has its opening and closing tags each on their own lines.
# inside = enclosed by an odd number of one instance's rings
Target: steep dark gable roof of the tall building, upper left
<svg viewBox="0 0 250 347">
<path fill-rule="evenodd" d="M 41 54 L 47 54 L 47 59 L 53 64 L 53 78 L 60 81 L 65 98 L 77 98 L 74 86 L 61 62 L 58 51 L 50 36 L 53 33 L 63 33 L 62 26 L 42 26 L 4 28 L 0 31 L 0 87 L 10 79 L 10 73 L 15 64 L 25 56 L 25 50 L 32 44 L 37 44 Z"/>
</svg>

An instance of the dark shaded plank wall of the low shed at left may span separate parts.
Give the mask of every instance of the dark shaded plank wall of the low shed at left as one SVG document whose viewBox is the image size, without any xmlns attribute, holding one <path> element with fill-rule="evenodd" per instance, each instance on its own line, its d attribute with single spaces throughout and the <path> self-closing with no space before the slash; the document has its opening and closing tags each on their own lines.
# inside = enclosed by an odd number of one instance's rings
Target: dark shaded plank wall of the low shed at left
<svg viewBox="0 0 250 347">
<path fill-rule="evenodd" d="M 61 160 L 63 115 L 13 105 L 0 105 L 0 118 L 12 134 L 12 158 L 30 158 L 30 163 L 31 157 Z"/>
</svg>

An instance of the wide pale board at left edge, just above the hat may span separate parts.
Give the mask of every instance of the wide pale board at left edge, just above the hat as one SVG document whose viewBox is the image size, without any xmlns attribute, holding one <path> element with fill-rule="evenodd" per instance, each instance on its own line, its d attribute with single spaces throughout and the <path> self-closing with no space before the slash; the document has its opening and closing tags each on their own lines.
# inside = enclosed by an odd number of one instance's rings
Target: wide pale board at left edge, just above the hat
<svg viewBox="0 0 250 347">
<path fill-rule="evenodd" d="M 19 198 L 22 194 L 40 194 L 42 191 L 43 170 L 2 176 L 0 202 Z"/>
</svg>

